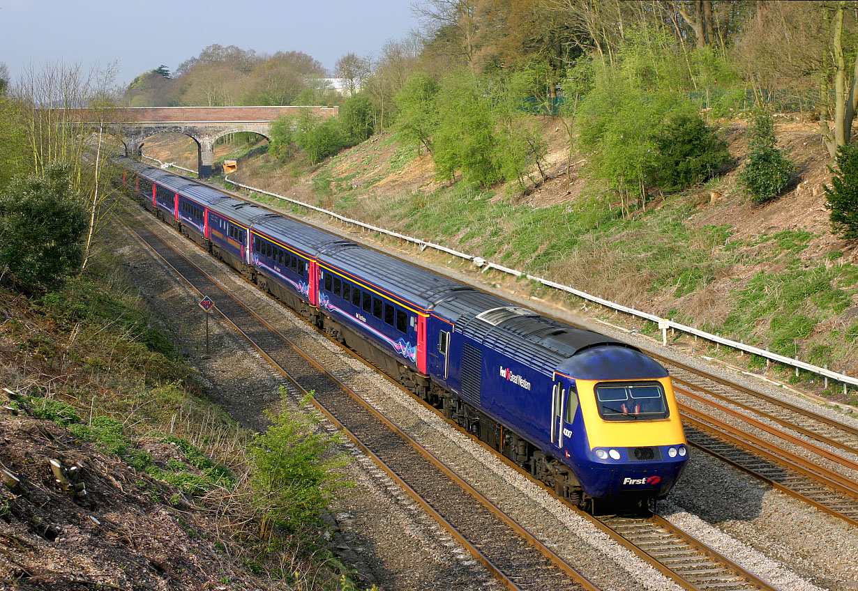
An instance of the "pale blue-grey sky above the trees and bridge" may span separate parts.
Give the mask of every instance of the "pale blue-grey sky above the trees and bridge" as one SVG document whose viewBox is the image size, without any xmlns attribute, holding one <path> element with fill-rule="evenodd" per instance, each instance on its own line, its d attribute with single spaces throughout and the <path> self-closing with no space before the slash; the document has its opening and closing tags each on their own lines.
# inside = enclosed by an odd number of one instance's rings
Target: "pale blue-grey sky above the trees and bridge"
<svg viewBox="0 0 858 591">
<path fill-rule="evenodd" d="M 378 54 L 419 22 L 410 0 L 0 0 L 0 62 L 27 67 L 118 63 L 121 86 L 162 63 L 174 71 L 212 44 L 304 51 L 327 69 Z"/>
</svg>

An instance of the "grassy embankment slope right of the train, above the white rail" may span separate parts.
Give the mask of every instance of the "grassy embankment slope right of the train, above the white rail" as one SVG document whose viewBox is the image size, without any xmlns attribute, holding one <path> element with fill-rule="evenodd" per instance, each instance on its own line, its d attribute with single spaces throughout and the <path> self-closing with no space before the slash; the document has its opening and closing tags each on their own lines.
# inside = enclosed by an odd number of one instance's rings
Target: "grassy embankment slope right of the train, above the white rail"
<svg viewBox="0 0 858 591">
<path fill-rule="evenodd" d="M 308 175 L 309 201 L 772 353 L 849 374 L 858 371 L 858 317 L 843 316 L 858 302 L 858 268 L 843 262 L 838 250 L 823 258 L 807 256 L 808 245 L 823 234 L 783 229 L 732 238 L 728 225 L 689 222 L 700 210 L 692 192 L 665 196 L 624 219 L 611 196 L 594 185 L 575 199 L 543 208 L 504 189 L 474 190 L 461 183 L 397 190 L 398 172 L 415 154 L 397 148 L 394 136 L 377 141 L 360 155 L 337 155 Z M 390 157 L 375 154 L 377 150 Z M 245 171 L 251 166 L 265 172 L 276 163 L 264 157 L 244 165 Z M 706 189 L 724 190 L 722 179 L 713 179 Z M 286 205 L 266 196 L 254 198 Z M 291 210 L 308 214 L 304 208 Z M 529 292 L 547 295 L 539 286 Z M 565 304 L 582 302 L 569 296 Z M 656 335 L 652 323 L 628 323 Z M 709 353 L 742 360 L 726 347 L 710 347 Z M 766 367 L 765 360 L 752 357 L 750 366 Z M 768 371 L 839 401 L 858 402 L 854 390 L 843 395 L 841 384 L 824 390 L 819 378 L 806 372 L 796 377 L 794 370 L 776 365 Z"/>
</svg>

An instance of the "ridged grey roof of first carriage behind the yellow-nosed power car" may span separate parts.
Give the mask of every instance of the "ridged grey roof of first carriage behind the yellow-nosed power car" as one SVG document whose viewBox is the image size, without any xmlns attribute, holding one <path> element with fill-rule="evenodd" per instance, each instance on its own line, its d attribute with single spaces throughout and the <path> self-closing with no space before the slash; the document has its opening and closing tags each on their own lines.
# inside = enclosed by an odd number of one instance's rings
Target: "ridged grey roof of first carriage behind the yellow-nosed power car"
<svg viewBox="0 0 858 591">
<path fill-rule="evenodd" d="M 438 294 L 451 289 L 470 289 L 432 271 L 345 240 L 319 250 L 318 259 L 423 310 L 432 309 Z"/>
</svg>

